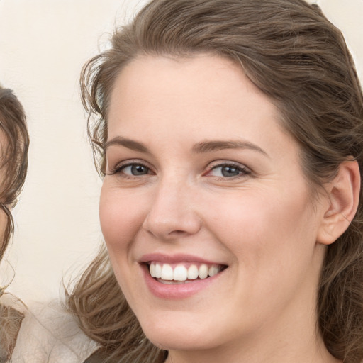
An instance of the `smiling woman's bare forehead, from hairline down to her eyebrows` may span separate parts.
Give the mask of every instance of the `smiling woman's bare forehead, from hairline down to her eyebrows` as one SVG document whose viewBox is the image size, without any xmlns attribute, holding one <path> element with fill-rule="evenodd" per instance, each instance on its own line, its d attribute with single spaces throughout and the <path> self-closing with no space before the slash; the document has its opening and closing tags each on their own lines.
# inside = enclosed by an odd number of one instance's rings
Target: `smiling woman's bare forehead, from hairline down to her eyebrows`
<svg viewBox="0 0 363 363">
<path fill-rule="evenodd" d="M 201 130 L 205 138 L 216 130 L 230 137 L 236 128 L 247 132 L 261 121 L 261 135 L 267 127 L 285 132 L 279 118 L 278 108 L 230 60 L 144 56 L 118 74 L 108 107 L 108 139 L 128 127 L 142 135 L 171 124 L 187 137 Z"/>
</svg>

